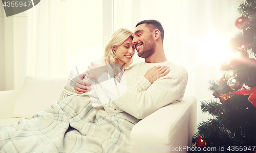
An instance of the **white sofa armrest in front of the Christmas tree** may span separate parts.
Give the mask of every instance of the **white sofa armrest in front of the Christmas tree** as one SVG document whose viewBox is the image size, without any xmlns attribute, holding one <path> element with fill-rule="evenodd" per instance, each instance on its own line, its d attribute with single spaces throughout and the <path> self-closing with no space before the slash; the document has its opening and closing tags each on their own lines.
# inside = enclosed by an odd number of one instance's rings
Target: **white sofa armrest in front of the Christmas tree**
<svg viewBox="0 0 256 153">
<path fill-rule="evenodd" d="M 194 96 L 185 96 L 178 103 L 160 108 L 132 128 L 131 152 L 187 152 L 183 147 L 191 147 L 196 115 Z"/>
</svg>

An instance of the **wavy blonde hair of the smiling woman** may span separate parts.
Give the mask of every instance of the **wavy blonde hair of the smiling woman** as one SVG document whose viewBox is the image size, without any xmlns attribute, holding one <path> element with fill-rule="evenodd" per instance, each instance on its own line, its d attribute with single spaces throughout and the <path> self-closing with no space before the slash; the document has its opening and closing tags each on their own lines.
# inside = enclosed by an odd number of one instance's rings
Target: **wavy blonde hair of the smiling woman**
<svg viewBox="0 0 256 153">
<path fill-rule="evenodd" d="M 122 43 L 129 37 L 132 37 L 132 34 L 133 32 L 130 31 L 130 30 L 127 30 L 127 29 L 118 29 L 116 30 L 112 36 L 111 36 L 111 39 L 110 41 L 108 42 L 108 44 L 106 44 L 106 47 L 105 47 L 105 52 L 104 52 L 104 59 L 110 63 L 110 64 L 115 64 L 117 63 L 117 56 L 116 56 L 116 53 L 115 51 L 113 50 L 113 48 L 115 46 L 120 46 L 122 45 Z M 132 64 L 133 62 L 133 59 L 131 59 L 131 62 L 130 63 L 124 63 L 122 65 L 123 69 L 125 68 L 129 68 L 130 65 Z"/>
</svg>

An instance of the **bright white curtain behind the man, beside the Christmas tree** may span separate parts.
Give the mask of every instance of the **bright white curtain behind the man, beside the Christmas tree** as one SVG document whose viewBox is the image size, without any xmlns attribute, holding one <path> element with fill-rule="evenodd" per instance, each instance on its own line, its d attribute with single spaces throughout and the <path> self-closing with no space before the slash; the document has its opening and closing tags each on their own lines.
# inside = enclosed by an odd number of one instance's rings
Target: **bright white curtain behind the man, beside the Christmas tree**
<svg viewBox="0 0 256 153">
<path fill-rule="evenodd" d="M 181 64 L 189 74 L 187 95 L 198 100 L 198 122 L 209 118 L 201 112 L 203 100 L 216 100 L 208 91 L 209 80 L 219 80 L 219 63 L 230 55 L 228 38 L 238 30 L 241 0 L 114 0 L 115 30 L 134 30 L 144 19 L 159 20 L 164 28 L 168 60 Z M 143 61 L 135 57 L 135 62 Z"/>
</svg>

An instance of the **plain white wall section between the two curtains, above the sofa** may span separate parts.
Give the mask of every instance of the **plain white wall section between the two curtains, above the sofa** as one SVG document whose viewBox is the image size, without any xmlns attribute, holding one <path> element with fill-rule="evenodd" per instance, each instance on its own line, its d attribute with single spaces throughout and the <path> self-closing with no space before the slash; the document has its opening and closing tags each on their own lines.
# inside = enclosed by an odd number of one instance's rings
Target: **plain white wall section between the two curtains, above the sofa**
<svg viewBox="0 0 256 153">
<path fill-rule="evenodd" d="M 102 10 L 102 1 L 67 1 L 67 56 L 95 45 L 103 47 Z"/>
</svg>

